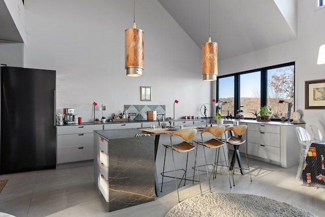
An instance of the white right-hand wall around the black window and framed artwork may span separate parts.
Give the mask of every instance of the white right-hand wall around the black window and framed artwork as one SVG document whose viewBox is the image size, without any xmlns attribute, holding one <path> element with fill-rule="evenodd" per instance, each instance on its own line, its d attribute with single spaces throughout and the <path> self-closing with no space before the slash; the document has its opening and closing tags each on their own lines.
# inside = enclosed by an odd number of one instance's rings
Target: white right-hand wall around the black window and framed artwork
<svg viewBox="0 0 325 217">
<path fill-rule="evenodd" d="M 305 109 L 305 81 L 325 79 L 325 65 L 317 65 L 318 48 L 325 44 L 325 8 L 315 10 L 316 1 L 298 1 L 298 39 L 235 58 L 219 61 L 219 75 L 296 61 L 295 111 L 302 120 L 324 131 L 324 110 Z"/>
</svg>

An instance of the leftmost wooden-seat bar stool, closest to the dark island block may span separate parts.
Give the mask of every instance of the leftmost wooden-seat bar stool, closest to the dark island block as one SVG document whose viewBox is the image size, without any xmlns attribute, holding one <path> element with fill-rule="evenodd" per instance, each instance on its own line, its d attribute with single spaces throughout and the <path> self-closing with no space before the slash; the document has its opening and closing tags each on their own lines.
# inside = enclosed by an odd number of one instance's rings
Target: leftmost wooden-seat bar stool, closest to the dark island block
<svg viewBox="0 0 325 217">
<path fill-rule="evenodd" d="M 194 152 L 194 149 L 196 148 L 196 146 L 193 145 L 193 138 L 197 135 L 197 130 L 196 129 L 184 129 L 184 130 L 180 130 L 180 131 L 176 131 L 174 133 L 172 133 L 170 135 L 171 138 L 171 145 L 164 145 L 165 146 L 165 159 L 164 159 L 164 168 L 163 168 L 163 172 L 160 173 L 163 176 L 163 179 L 161 180 L 161 191 L 163 192 L 163 183 L 164 183 L 164 177 L 170 177 L 170 178 L 175 178 L 175 182 L 176 182 L 176 189 L 177 189 L 177 196 L 178 196 L 178 202 L 180 202 L 179 200 L 179 193 L 178 193 L 178 188 L 179 185 L 181 184 L 182 180 L 184 180 L 184 185 L 185 185 L 185 181 L 186 180 L 190 180 L 190 181 L 199 181 L 200 183 L 200 191 L 201 191 L 201 195 L 202 195 L 202 189 L 201 189 L 201 181 L 200 181 L 200 176 L 199 176 L 199 170 L 197 169 L 197 173 L 198 173 L 198 178 L 199 180 L 194 180 L 194 176 L 193 179 L 187 179 L 186 178 L 186 172 L 187 172 L 187 162 L 188 162 L 188 152 L 189 151 L 193 151 L 193 156 L 194 156 L 194 165 L 197 164 L 197 160 L 196 160 L 196 154 Z M 184 141 L 177 143 L 177 144 L 173 144 L 172 138 L 174 136 L 178 136 L 180 138 L 182 138 Z M 167 149 L 171 149 L 172 150 L 172 157 L 173 157 L 173 164 L 174 164 L 174 170 L 171 171 L 167 171 L 165 172 L 165 162 L 166 162 L 166 152 Z M 187 157 L 186 157 L 186 165 L 185 165 L 185 169 L 176 169 L 176 165 L 175 165 L 175 160 L 174 160 L 174 151 L 176 152 L 186 152 L 187 153 Z M 182 177 L 177 177 L 176 175 L 176 171 L 182 170 L 184 171 Z M 165 175 L 165 173 L 169 173 L 169 172 L 173 172 L 175 176 L 168 176 Z M 177 184 L 177 179 L 180 179 L 179 184 Z"/>
</svg>

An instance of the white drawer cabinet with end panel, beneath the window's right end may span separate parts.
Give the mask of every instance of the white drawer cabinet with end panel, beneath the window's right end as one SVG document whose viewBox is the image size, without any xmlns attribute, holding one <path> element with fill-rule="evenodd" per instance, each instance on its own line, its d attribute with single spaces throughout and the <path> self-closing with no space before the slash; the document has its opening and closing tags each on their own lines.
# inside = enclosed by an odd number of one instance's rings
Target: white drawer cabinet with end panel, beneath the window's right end
<svg viewBox="0 0 325 217">
<path fill-rule="evenodd" d="M 299 163 L 300 146 L 296 127 L 304 124 L 247 123 L 247 154 L 250 158 L 283 168 Z"/>
</svg>

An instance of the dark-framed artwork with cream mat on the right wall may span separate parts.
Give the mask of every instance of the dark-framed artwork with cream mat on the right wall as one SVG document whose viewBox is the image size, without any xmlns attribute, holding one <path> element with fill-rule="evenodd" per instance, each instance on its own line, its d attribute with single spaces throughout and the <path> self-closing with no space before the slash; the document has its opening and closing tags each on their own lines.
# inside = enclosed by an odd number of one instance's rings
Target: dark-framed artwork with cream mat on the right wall
<svg viewBox="0 0 325 217">
<path fill-rule="evenodd" d="M 325 79 L 305 81 L 305 109 L 325 109 Z"/>
</svg>

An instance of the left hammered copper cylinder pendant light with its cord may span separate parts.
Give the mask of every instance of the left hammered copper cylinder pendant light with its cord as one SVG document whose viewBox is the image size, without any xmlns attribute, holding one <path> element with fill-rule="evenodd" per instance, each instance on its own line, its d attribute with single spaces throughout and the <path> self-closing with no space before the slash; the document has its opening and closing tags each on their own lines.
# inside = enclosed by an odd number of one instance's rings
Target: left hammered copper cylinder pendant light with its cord
<svg viewBox="0 0 325 217">
<path fill-rule="evenodd" d="M 136 1 L 134 0 L 133 28 L 125 30 L 125 69 L 126 75 L 131 77 L 142 76 L 142 70 L 144 67 L 144 32 L 136 27 L 135 14 Z"/>
</svg>

